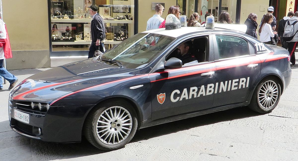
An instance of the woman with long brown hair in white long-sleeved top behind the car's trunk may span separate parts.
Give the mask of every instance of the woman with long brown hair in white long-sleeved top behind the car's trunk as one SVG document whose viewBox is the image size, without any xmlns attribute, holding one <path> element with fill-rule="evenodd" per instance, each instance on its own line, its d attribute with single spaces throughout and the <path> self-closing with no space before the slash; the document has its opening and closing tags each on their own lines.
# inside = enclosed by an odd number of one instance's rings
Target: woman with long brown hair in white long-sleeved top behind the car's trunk
<svg viewBox="0 0 298 161">
<path fill-rule="evenodd" d="M 273 15 L 272 14 L 266 14 L 263 17 L 263 21 L 260 25 L 259 33 L 260 33 L 260 41 L 264 42 L 265 44 L 271 44 L 276 45 L 276 42 L 274 39 L 271 39 L 274 37 L 275 34 L 277 34 L 276 31 L 272 31 L 271 23 L 273 21 Z"/>
</svg>

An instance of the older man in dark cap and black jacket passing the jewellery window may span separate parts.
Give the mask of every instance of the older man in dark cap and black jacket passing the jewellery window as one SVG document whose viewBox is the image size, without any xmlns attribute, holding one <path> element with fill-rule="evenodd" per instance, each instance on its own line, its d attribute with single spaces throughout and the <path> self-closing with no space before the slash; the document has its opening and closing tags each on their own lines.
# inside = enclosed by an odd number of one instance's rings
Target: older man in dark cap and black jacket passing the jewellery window
<svg viewBox="0 0 298 161">
<path fill-rule="evenodd" d="M 89 14 L 92 15 L 92 44 L 89 48 L 88 58 L 92 58 L 96 50 L 100 50 L 102 53 L 105 52 L 105 46 L 103 44 L 105 42 L 105 24 L 103 22 L 103 18 L 101 18 L 101 16 L 97 13 L 97 7 L 95 5 L 91 5 L 89 7 Z"/>
</svg>

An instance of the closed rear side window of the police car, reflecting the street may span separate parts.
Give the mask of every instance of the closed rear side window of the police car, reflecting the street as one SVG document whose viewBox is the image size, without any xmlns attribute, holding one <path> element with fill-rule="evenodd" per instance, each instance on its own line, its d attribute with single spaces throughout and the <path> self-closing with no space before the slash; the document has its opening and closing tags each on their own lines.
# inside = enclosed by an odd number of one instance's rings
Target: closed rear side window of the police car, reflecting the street
<svg viewBox="0 0 298 161">
<path fill-rule="evenodd" d="M 249 55 L 248 42 L 230 35 L 216 35 L 219 59 Z"/>
</svg>

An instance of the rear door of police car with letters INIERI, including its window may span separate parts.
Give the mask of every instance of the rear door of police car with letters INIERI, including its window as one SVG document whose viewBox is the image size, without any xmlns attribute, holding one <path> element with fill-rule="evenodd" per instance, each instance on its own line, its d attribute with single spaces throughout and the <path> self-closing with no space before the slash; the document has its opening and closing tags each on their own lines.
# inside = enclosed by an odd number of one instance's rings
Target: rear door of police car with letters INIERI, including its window
<svg viewBox="0 0 298 161">
<path fill-rule="evenodd" d="M 215 95 L 213 107 L 244 102 L 260 75 L 261 61 L 253 45 L 240 35 L 213 35 Z"/>
</svg>

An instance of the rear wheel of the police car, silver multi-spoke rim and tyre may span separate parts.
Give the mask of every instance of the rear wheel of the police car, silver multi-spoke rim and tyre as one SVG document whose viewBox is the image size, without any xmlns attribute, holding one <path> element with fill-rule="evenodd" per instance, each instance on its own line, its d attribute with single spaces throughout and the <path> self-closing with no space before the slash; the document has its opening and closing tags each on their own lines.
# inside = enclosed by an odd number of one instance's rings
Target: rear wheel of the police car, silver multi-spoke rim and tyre
<svg viewBox="0 0 298 161">
<path fill-rule="evenodd" d="M 259 113 L 269 113 L 277 106 L 280 95 L 279 81 L 274 77 L 267 77 L 258 84 L 248 107 Z"/>
</svg>

